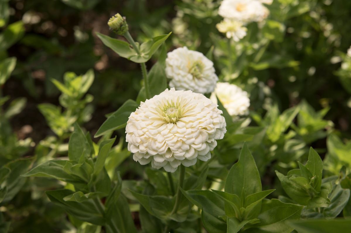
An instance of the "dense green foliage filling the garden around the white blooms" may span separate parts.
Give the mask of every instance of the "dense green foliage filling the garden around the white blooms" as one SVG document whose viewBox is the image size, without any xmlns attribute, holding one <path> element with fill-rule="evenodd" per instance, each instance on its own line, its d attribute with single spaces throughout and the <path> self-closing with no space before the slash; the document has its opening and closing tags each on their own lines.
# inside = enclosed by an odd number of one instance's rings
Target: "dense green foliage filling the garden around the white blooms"
<svg viewBox="0 0 351 233">
<path fill-rule="evenodd" d="M 274 0 L 239 42 L 219 5 L 0 0 L 0 233 L 351 229 L 351 1 Z M 108 30 L 117 12 L 128 34 Z M 125 126 L 183 46 L 251 104 L 219 101 L 211 159 L 170 173 L 132 159 Z"/>
</svg>

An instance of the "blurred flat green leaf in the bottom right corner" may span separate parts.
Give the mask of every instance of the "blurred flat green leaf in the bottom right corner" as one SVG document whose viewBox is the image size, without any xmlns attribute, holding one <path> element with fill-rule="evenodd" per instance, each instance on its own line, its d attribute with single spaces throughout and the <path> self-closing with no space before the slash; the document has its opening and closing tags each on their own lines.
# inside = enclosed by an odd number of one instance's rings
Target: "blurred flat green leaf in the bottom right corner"
<svg viewBox="0 0 351 233">
<path fill-rule="evenodd" d="M 289 221 L 288 224 L 299 233 L 335 233 L 349 232 L 351 219 L 308 219 Z"/>
</svg>

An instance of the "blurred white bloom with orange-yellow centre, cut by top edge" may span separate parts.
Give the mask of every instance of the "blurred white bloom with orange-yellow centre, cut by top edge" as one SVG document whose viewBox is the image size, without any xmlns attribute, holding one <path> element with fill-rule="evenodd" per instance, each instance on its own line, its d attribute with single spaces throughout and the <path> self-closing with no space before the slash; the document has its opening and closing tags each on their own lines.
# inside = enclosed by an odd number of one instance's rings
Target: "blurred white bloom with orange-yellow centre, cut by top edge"
<svg viewBox="0 0 351 233">
<path fill-rule="evenodd" d="M 218 14 L 223 18 L 249 23 L 263 21 L 269 11 L 258 0 L 224 0 Z"/>
</svg>

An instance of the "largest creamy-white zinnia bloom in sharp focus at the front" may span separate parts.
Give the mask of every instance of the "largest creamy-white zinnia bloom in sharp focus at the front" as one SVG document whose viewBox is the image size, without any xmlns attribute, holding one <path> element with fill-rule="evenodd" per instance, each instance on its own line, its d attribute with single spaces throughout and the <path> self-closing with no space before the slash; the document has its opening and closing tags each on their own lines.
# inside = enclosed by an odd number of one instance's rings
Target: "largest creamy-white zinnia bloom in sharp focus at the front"
<svg viewBox="0 0 351 233">
<path fill-rule="evenodd" d="M 174 172 L 197 159 L 207 161 L 226 132 L 222 111 L 204 95 L 166 89 L 141 102 L 126 126 L 126 142 L 141 165 Z"/>
</svg>

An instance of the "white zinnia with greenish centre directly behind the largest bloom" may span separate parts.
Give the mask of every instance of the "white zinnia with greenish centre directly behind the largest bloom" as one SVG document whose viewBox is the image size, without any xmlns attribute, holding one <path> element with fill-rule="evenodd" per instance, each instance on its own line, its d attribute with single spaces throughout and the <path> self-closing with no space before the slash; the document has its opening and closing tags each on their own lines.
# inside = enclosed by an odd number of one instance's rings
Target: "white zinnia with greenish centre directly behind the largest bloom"
<svg viewBox="0 0 351 233">
<path fill-rule="evenodd" d="M 187 47 L 167 53 L 166 75 L 171 78 L 170 87 L 201 94 L 212 92 L 218 81 L 213 62 Z"/>
</svg>

